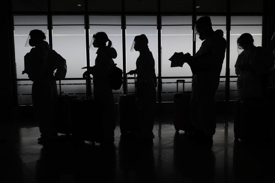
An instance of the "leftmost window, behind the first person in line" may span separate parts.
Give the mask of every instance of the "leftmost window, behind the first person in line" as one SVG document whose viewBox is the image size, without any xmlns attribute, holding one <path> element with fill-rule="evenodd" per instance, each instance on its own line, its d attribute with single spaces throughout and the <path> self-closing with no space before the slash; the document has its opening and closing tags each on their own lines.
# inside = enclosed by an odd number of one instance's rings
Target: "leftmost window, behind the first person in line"
<svg viewBox="0 0 275 183">
<path fill-rule="evenodd" d="M 46 41 L 49 42 L 47 16 L 13 16 L 13 23 L 16 77 L 28 80 L 28 75 L 22 75 L 22 71 L 24 70 L 24 56 L 30 52 L 32 47 L 25 47 L 25 43 L 33 29 L 39 29 L 46 33 Z M 18 104 L 32 104 L 32 81 L 17 81 L 17 92 Z"/>
</svg>

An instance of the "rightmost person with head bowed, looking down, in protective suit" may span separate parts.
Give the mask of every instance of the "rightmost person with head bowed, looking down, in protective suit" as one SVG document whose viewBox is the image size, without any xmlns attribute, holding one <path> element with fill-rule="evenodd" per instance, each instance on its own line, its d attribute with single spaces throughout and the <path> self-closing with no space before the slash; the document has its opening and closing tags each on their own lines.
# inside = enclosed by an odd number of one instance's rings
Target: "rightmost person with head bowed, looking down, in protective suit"
<svg viewBox="0 0 275 183">
<path fill-rule="evenodd" d="M 239 98 L 263 98 L 268 85 L 268 75 L 274 56 L 264 48 L 254 46 L 251 34 L 244 33 L 237 39 L 238 53 L 235 64 L 237 96 Z M 243 50 L 243 51 L 242 51 Z"/>
</svg>

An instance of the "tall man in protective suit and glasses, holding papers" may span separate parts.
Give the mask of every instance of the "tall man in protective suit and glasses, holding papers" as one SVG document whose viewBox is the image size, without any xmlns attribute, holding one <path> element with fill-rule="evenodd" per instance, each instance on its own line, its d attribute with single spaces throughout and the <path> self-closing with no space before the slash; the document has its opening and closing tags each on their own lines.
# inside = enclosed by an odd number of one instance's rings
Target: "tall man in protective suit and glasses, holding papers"
<svg viewBox="0 0 275 183">
<path fill-rule="evenodd" d="M 203 42 L 195 56 L 185 54 L 193 73 L 190 118 L 195 131 L 190 138 L 198 143 L 212 144 L 215 134 L 215 92 L 225 57 L 226 40 L 223 31 L 213 31 L 211 19 L 201 17 L 195 24 L 195 33 Z"/>
</svg>

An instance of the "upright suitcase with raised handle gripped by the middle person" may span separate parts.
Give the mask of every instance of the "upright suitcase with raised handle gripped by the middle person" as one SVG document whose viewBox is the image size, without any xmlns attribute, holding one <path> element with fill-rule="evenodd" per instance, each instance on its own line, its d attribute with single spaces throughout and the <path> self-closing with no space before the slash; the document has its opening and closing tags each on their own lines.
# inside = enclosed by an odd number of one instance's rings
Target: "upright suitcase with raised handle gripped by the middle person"
<svg viewBox="0 0 275 183">
<path fill-rule="evenodd" d="M 128 79 L 126 76 L 126 83 L 127 82 Z M 121 134 L 140 131 L 135 105 L 135 94 L 128 94 L 127 86 L 126 94 L 122 94 L 118 98 L 118 121 Z"/>
</svg>

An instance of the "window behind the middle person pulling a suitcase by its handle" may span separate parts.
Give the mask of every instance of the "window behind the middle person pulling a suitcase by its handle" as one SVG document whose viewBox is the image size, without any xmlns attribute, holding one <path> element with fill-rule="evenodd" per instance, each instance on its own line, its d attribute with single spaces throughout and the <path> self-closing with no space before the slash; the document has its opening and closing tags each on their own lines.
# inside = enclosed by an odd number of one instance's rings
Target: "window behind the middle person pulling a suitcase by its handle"
<svg viewBox="0 0 275 183">
<path fill-rule="evenodd" d="M 138 51 L 131 52 L 135 36 L 145 34 L 148 38 L 148 47 L 155 60 L 155 71 L 158 75 L 158 31 L 156 16 L 126 16 L 126 72 L 136 69 Z M 133 83 L 133 80 L 128 80 Z M 133 84 L 128 85 L 128 91 L 134 92 Z"/>
</svg>

